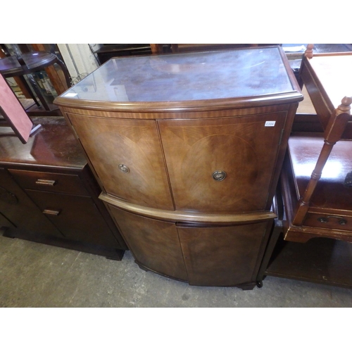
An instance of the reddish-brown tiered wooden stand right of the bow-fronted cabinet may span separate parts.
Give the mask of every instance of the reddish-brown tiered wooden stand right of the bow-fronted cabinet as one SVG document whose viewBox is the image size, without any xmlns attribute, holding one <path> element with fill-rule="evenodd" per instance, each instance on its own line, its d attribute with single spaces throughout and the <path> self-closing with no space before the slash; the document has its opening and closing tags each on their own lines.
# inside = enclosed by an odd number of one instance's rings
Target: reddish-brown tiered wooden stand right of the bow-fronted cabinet
<svg viewBox="0 0 352 352">
<path fill-rule="evenodd" d="M 277 189 L 283 203 L 259 282 L 274 275 L 352 287 L 351 60 L 351 53 L 303 58 L 302 82 L 324 132 L 296 128 L 289 138 Z"/>
</svg>

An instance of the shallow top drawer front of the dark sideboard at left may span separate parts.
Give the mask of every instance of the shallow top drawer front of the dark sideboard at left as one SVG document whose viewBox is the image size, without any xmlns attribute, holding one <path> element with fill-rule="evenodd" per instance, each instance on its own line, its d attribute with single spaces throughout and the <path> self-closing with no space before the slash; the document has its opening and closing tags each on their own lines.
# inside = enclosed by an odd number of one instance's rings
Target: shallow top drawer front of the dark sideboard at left
<svg viewBox="0 0 352 352">
<path fill-rule="evenodd" d="M 63 175 L 51 172 L 9 170 L 23 189 L 53 191 L 66 194 L 89 196 L 87 189 L 77 175 Z"/>
</svg>

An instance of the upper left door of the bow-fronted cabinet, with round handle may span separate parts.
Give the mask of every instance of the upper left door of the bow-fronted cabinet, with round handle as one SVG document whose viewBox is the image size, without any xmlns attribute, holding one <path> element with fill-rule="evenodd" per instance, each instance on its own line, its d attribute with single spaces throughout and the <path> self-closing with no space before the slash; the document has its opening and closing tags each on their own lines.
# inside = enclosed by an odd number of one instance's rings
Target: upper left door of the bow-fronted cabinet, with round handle
<svg viewBox="0 0 352 352">
<path fill-rule="evenodd" d="M 173 210 L 155 121 L 75 114 L 69 118 L 106 193 L 142 206 Z"/>
</svg>

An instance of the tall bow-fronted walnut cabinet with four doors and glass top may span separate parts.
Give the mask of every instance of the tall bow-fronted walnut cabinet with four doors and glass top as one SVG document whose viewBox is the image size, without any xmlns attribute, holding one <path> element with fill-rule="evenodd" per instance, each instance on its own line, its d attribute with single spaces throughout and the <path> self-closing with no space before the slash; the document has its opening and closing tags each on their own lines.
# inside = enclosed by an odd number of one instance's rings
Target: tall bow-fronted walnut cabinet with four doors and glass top
<svg viewBox="0 0 352 352">
<path fill-rule="evenodd" d="M 270 47 L 114 58 L 55 103 L 142 268 L 249 289 L 301 99 Z"/>
</svg>

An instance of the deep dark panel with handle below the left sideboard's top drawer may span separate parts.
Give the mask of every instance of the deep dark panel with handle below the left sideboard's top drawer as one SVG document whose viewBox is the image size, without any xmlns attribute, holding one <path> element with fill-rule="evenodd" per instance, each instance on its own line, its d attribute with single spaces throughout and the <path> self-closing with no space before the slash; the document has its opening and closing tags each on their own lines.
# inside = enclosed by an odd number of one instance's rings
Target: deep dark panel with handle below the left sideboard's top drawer
<svg viewBox="0 0 352 352">
<path fill-rule="evenodd" d="M 118 247 L 118 242 L 90 197 L 43 191 L 27 191 L 27 194 L 68 239 Z"/>
</svg>

